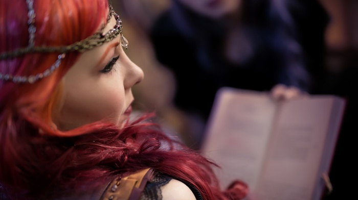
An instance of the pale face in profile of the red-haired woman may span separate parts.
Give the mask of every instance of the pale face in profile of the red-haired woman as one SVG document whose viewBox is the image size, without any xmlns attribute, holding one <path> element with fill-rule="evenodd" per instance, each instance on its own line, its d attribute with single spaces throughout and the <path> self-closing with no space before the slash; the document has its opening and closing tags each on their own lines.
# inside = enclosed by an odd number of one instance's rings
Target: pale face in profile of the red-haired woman
<svg viewBox="0 0 358 200">
<path fill-rule="evenodd" d="M 116 24 L 114 17 L 103 33 Z M 134 100 L 131 87 L 143 71 L 124 53 L 120 36 L 83 53 L 63 78 L 63 92 L 54 122 L 61 131 L 106 120 L 122 127 Z"/>
</svg>

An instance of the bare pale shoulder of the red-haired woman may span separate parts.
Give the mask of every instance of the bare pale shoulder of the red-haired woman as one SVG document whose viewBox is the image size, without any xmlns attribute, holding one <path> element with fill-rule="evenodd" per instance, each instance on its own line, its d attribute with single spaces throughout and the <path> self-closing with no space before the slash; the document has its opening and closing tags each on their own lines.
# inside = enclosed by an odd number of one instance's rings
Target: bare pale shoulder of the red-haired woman
<svg viewBox="0 0 358 200">
<path fill-rule="evenodd" d="M 190 188 L 183 182 L 172 179 L 168 184 L 161 187 L 163 200 L 195 200 Z"/>
</svg>

